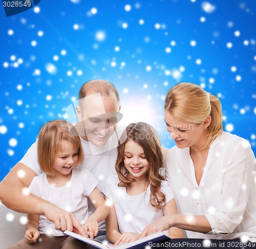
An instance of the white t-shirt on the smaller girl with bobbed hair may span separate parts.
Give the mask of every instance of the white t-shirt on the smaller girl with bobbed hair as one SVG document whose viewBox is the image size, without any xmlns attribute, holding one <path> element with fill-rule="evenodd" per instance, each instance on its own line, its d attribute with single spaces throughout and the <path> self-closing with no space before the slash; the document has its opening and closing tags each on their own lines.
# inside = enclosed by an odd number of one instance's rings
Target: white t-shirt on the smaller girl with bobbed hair
<svg viewBox="0 0 256 249">
<path fill-rule="evenodd" d="M 97 180 L 88 170 L 73 168 L 71 179 L 67 185 L 59 188 L 53 187 L 49 184 L 47 175 L 42 173 L 33 178 L 29 191 L 33 195 L 75 214 L 83 226 L 89 217 L 88 196 L 97 184 Z M 54 222 L 49 221 L 45 215 L 39 216 L 39 232 L 63 236 L 61 231 L 55 229 Z"/>
</svg>

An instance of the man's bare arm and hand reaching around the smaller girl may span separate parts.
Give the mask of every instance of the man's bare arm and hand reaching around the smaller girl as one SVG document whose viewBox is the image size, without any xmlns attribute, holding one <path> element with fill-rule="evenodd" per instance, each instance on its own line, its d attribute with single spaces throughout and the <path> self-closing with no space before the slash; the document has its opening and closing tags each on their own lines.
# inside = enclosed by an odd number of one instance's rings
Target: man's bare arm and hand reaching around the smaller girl
<svg viewBox="0 0 256 249">
<path fill-rule="evenodd" d="M 83 229 L 74 214 L 62 210 L 52 203 L 38 198 L 28 192 L 35 171 L 25 164 L 17 163 L 0 183 L 0 200 L 16 212 L 29 214 L 44 214 L 55 223 L 55 228 L 61 231 L 73 231 L 73 225 L 84 234 Z"/>
</svg>

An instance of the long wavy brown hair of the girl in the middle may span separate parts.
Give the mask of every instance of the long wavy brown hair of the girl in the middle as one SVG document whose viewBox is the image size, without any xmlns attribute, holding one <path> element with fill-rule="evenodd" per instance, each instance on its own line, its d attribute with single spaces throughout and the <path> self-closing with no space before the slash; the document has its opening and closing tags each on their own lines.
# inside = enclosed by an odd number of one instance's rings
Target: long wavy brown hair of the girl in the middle
<svg viewBox="0 0 256 249">
<path fill-rule="evenodd" d="M 160 175 L 160 168 L 163 167 L 163 153 L 156 130 L 146 123 L 128 125 L 120 138 L 120 141 L 124 142 L 117 148 L 115 169 L 120 181 L 118 187 L 129 187 L 135 182 L 134 178 L 127 178 L 129 171 L 124 165 L 124 147 L 131 140 L 143 148 L 146 160 L 150 164 L 150 169 L 147 171 L 151 190 L 150 203 L 153 208 L 160 210 L 165 205 L 165 194 L 161 191 L 163 177 Z"/>
</svg>

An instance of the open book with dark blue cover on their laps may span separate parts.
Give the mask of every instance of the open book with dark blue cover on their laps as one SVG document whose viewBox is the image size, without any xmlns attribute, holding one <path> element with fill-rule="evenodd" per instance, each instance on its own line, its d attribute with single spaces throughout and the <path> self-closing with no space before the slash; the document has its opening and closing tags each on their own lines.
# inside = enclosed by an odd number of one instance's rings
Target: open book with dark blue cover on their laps
<svg viewBox="0 0 256 249">
<path fill-rule="evenodd" d="M 63 232 L 64 234 L 67 234 L 69 236 L 72 236 L 76 239 L 79 239 L 81 241 L 84 241 L 88 244 L 91 244 L 91 245 L 94 245 L 98 248 L 101 248 L 101 249 L 125 249 L 125 248 L 145 248 L 145 246 L 147 245 L 151 245 L 153 243 L 160 243 L 160 242 L 163 242 L 163 241 L 167 241 L 168 239 L 170 239 L 170 237 L 168 236 L 168 232 L 167 231 L 164 231 L 164 232 L 159 232 L 159 233 L 156 233 L 156 234 L 152 234 L 150 236 L 146 236 L 142 239 L 138 239 L 138 240 L 135 240 L 133 242 L 130 242 L 130 243 L 126 243 L 126 244 L 120 244 L 120 245 L 116 245 L 116 246 L 111 246 L 109 244 L 104 244 L 103 242 L 99 241 L 99 240 L 96 240 L 96 239 L 90 239 L 90 238 L 86 238 L 86 237 L 83 237 L 82 235 L 80 234 L 76 234 L 76 233 L 73 233 L 73 232 L 70 232 L 68 230 L 66 230 L 65 232 Z"/>
</svg>

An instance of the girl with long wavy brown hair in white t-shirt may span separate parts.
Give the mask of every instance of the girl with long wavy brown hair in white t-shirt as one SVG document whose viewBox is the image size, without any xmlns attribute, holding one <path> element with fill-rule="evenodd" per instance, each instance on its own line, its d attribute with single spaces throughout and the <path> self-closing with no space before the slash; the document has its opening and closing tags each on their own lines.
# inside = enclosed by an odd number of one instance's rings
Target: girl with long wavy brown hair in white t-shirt
<svg viewBox="0 0 256 249">
<path fill-rule="evenodd" d="M 163 154 L 156 130 L 146 123 L 126 127 L 118 146 L 115 169 L 103 189 L 106 202 L 113 202 L 106 218 L 106 237 L 115 245 L 132 242 L 144 227 L 167 214 L 177 214 L 172 191 L 160 169 Z M 171 228 L 173 238 L 183 232 Z"/>
</svg>

